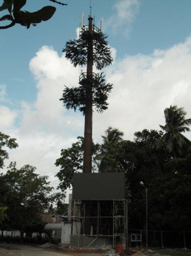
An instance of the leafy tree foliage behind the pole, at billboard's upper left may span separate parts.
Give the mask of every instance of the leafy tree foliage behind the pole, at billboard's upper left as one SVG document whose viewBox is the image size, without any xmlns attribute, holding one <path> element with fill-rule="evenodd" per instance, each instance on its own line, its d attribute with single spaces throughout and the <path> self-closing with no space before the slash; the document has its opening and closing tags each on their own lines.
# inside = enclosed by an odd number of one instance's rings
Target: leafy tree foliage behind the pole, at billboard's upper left
<svg viewBox="0 0 191 256">
<path fill-rule="evenodd" d="M 82 172 L 83 170 L 83 137 L 78 137 L 78 141 L 72 144 L 72 147 L 62 149 L 61 157 L 56 160 L 55 165 L 60 167 L 60 171 L 56 174 L 60 183 L 58 188 L 62 191 L 66 190 L 73 183 L 73 173 Z M 99 145 L 92 144 L 93 157 Z M 96 166 L 93 165 L 92 169 L 95 170 Z"/>
</svg>

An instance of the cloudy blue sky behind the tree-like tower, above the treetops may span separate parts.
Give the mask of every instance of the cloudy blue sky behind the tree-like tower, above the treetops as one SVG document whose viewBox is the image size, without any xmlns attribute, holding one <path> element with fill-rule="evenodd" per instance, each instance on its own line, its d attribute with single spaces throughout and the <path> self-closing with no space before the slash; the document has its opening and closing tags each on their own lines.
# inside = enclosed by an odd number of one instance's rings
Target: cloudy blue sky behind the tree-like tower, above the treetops
<svg viewBox="0 0 191 256">
<path fill-rule="evenodd" d="M 62 48 L 76 38 L 81 12 L 88 23 L 90 1 L 64 2 L 68 5 L 27 0 L 23 10 L 45 5 L 57 10 L 28 30 L 17 24 L 0 31 L 0 131 L 20 145 L 9 161 L 32 164 L 47 175 L 59 171 L 54 163 L 61 148 L 82 136 L 84 126 L 81 113 L 64 109 L 59 98 L 64 85 L 78 84 L 81 68 L 73 68 Z M 104 18 L 114 56 L 104 70 L 114 85 L 109 109 L 93 116 L 95 142 L 109 125 L 127 140 L 144 128 L 159 129 L 170 104 L 185 107 L 191 117 L 191 1 L 91 0 L 91 7 L 98 27 Z"/>
</svg>

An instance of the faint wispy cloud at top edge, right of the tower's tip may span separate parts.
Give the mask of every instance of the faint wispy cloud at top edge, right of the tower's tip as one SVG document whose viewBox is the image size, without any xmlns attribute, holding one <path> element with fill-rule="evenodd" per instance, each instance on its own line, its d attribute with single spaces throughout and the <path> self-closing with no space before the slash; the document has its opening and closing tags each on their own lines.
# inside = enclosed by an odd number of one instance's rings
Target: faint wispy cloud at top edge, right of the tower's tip
<svg viewBox="0 0 191 256">
<path fill-rule="evenodd" d="M 128 37 L 131 32 L 131 24 L 139 13 L 139 7 L 139 0 L 117 0 L 114 5 L 116 14 L 106 20 L 104 27 L 111 27 L 114 33 L 121 27 L 125 36 Z M 120 32 L 122 31 L 121 28 Z"/>
</svg>

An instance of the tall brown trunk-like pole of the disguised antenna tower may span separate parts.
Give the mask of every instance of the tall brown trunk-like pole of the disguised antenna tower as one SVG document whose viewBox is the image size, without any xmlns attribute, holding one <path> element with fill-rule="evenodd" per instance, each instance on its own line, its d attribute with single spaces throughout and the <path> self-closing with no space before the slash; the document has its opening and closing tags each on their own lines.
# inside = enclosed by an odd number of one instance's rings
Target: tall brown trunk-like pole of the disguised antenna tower
<svg viewBox="0 0 191 256">
<path fill-rule="evenodd" d="M 88 18 L 88 30 L 93 32 L 93 18 Z M 83 172 L 91 173 L 92 169 L 92 75 L 93 75 L 93 40 L 91 36 L 88 40 L 88 57 L 87 57 L 87 83 L 86 83 L 86 102 L 85 102 L 85 127 L 84 127 L 84 155 L 83 155 Z M 87 191 L 88 193 L 88 191 Z M 86 202 L 84 233 L 90 235 L 90 204 Z"/>
</svg>

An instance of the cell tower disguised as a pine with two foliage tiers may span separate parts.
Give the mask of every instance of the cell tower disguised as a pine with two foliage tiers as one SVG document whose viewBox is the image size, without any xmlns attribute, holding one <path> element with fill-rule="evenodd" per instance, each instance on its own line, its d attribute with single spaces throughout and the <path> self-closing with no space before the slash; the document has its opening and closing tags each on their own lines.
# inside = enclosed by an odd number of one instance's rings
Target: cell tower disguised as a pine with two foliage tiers
<svg viewBox="0 0 191 256">
<path fill-rule="evenodd" d="M 110 48 L 106 41 L 107 36 L 93 24 L 91 15 L 88 25 L 81 24 L 79 39 L 66 42 L 63 52 L 73 66 L 87 66 L 87 72 L 81 73 L 79 86 L 63 91 L 62 98 L 66 109 L 79 109 L 85 116 L 84 126 L 84 155 L 83 172 L 92 171 L 92 111 L 102 113 L 108 107 L 107 99 L 112 89 L 111 84 L 106 84 L 103 73 L 94 73 L 93 65 L 97 70 L 102 70 L 112 62 Z M 87 191 L 88 193 L 88 191 Z M 90 234 L 90 207 L 86 206 L 85 234 Z"/>
</svg>

